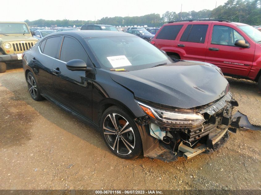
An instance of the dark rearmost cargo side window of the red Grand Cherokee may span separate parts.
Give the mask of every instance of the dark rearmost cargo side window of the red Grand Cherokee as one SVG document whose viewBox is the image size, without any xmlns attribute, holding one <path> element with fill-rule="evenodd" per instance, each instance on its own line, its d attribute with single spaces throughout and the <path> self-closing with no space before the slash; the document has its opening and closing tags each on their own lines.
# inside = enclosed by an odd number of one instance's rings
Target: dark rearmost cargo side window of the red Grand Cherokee
<svg viewBox="0 0 261 195">
<path fill-rule="evenodd" d="M 175 40 L 183 25 L 164 26 L 156 39 Z"/>
</svg>

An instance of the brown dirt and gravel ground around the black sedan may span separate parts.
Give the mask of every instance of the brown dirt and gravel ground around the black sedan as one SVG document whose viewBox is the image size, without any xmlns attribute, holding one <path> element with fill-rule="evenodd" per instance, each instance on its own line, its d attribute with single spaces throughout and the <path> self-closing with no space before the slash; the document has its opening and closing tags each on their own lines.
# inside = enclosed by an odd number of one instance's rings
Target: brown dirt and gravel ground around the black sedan
<svg viewBox="0 0 261 195">
<path fill-rule="evenodd" d="M 238 110 L 261 123 L 257 84 L 228 77 Z M 123 160 L 94 128 L 28 93 L 23 70 L 0 74 L 0 189 L 261 189 L 261 132 L 240 130 L 211 155 Z"/>
</svg>

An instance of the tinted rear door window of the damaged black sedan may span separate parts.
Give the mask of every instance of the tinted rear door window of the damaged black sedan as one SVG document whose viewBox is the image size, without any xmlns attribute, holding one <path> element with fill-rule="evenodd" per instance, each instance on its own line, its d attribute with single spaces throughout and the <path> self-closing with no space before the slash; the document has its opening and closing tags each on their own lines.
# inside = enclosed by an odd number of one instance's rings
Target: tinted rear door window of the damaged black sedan
<svg viewBox="0 0 261 195">
<path fill-rule="evenodd" d="M 58 48 L 60 46 L 61 37 L 51 37 L 46 40 L 44 46 L 44 54 L 52 58 L 57 58 Z"/>
</svg>

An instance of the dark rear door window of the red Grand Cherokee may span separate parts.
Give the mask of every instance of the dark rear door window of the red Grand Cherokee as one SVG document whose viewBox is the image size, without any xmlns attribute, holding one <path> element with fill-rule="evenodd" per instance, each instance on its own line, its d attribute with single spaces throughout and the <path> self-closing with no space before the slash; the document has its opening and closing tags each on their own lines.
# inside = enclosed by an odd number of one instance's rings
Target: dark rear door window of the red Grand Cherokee
<svg viewBox="0 0 261 195">
<path fill-rule="evenodd" d="M 207 24 L 189 24 L 187 25 L 186 30 L 183 32 L 180 41 L 204 43 L 207 30 Z"/>
</svg>

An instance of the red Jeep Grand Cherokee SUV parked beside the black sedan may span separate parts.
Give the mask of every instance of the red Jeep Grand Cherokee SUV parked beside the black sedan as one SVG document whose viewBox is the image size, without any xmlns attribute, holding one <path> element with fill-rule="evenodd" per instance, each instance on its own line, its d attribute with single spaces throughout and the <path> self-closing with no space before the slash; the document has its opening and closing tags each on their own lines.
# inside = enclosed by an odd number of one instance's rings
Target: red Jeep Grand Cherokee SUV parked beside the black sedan
<svg viewBox="0 0 261 195">
<path fill-rule="evenodd" d="M 227 20 L 183 20 L 164 24 L 151 43 L 176 59 L 198 60 L 224 75 L 258 82 L 261 91 L 261 32 Z"/>
</svg>

